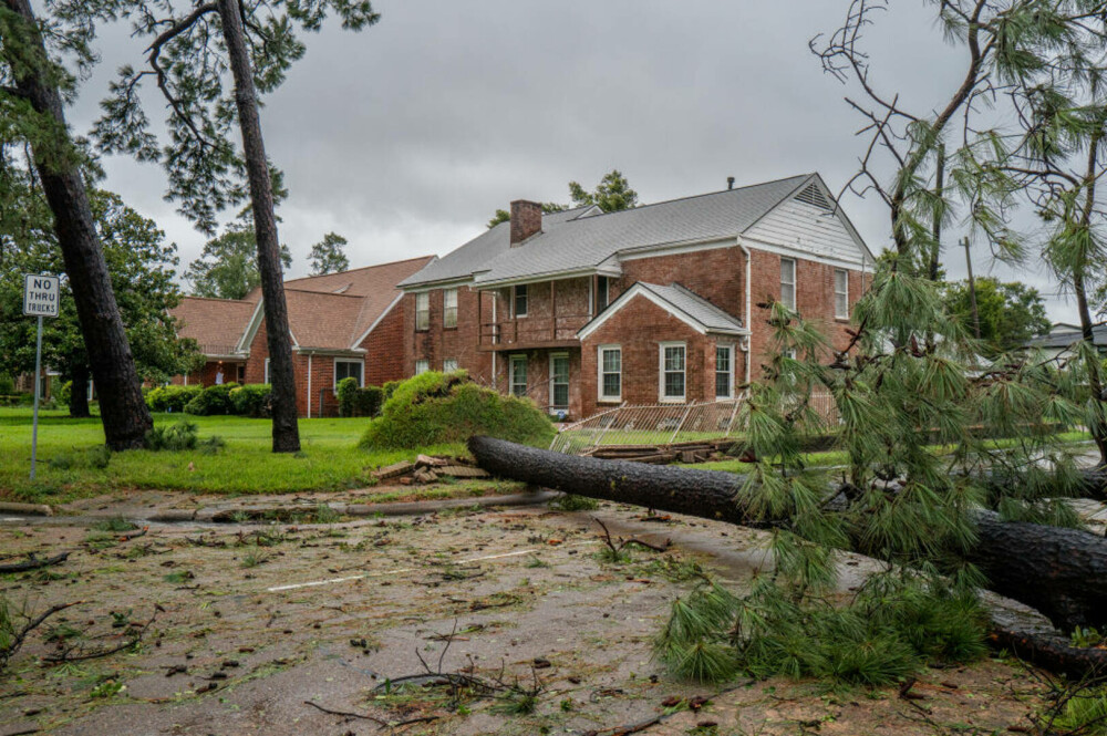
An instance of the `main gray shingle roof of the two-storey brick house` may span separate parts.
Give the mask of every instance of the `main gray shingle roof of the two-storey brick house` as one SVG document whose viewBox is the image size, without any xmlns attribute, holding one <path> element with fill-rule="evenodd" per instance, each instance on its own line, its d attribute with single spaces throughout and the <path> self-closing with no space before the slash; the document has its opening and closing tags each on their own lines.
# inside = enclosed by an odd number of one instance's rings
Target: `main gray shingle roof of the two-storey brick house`
<svg viewBox="0 0 1107 736">
<path fill-rule="evenodd" d="M 736 237 L 807 183 L 814 174 L 578 217 L 569 210 L 542 218 L 542 232 L 518 248 L 503 222 L 401 283 L 410 287 L 474 277 L 495 283 L 590 270 L 618 252 L 710 238 Z"/>
</svg>

